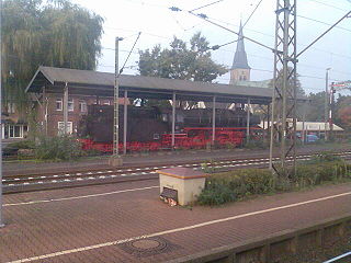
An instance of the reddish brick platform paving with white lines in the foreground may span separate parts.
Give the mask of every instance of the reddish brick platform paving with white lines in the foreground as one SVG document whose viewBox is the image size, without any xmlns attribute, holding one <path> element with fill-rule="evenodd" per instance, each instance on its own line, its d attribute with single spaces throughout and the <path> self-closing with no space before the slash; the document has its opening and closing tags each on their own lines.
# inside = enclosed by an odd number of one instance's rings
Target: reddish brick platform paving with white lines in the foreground
<svg viewBox="0 0 351 263">
<path fill-rule="evenodd" d="M 351 207 L 351 183 L 216 208 L 170 207 L 158 194 L 155 180 L 5 195 L 0 262 L 39 255 L 33 262 L 166 262 L 347 215 Z M 163 240 L 166 250 L 125 250 L 145 235 Z"/>
</svg>

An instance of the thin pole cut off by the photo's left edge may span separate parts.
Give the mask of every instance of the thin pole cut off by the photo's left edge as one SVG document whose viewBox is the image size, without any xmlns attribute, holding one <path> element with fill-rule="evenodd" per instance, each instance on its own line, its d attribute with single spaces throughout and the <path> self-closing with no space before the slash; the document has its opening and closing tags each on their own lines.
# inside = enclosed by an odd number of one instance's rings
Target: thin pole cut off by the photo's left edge
<svg viewBox="0 0 351 263">
<path fill-rule="evenodd" d="M 1 16 L 2 16 L 2 1 L 0 1 L 0 32 L 2 28 L 1 24 Z M 0 34 L 0 228 L 4 227 L 3 219 L 2 219 L 2 38 Z"/>
</svg>

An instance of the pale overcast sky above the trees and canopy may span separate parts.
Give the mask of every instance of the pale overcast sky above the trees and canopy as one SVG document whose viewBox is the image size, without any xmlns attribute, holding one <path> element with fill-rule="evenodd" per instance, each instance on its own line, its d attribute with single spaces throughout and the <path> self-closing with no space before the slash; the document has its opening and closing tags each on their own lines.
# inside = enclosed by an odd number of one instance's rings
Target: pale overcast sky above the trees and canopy
<svg viewBox="0 0 351 263">
<path fill-rule="evenodd" d="M 191 36 L 201 32 L 210 45 L 222 45 L 237 39 L 237 35 L 195 18 L 188 12 L 172 12 L 170 7 L 192 10 L 216 0 L 72 0 L 104 18 L 104 34 L 101 39 L 102 56 L 98 71 L 114 72 L 114 41 L 120 42 L 120 67 L 126 61 L 128 52 L 139 32 L 138 42 L 126 62 L 123 73 L 138 75 L 138 50 L 152 48 L 160 44 L 169 47 L 173 36 L 189 42 Z M 210 20 L 238 32 L 240 20 L 247 21 L 260 0 L 224 0 L 203 8 L 197 12 Z M 274 46 L 275 0 L 262 0 L 244 28 L 244 35 L 267 46 Z M 297 53 L 317 38 L 351 10 L 351 0 L 297 0 Z M 254 43 L 245 41 L 251 80 L 267 80 L 273 76 L 273 54 Z M 236 44 L 212 52 L 217 64 L 230 68 Z M 325 90 L 326 69 L 330 82 L 351 80 L 351 18 L 343 20 L 338 27 L 307 49 L 297 64 L 299 80 L 306 93 Z M 218 77 L 216 82 L 229 83 L 229 73 Z M 351 93 L 351 92 L 349 92 Z M 348 93 L 347 93 L 348 94 Z"/>
</svg>

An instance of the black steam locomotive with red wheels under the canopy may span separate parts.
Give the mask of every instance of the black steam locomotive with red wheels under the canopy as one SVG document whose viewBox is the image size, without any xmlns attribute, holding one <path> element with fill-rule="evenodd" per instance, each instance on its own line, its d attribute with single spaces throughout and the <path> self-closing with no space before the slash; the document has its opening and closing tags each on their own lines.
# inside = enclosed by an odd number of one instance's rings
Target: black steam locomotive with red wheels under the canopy
<svg viewBox="0 0 351 263">
<path fill-rule="evenodd" d="M 127 150 L 159 150 L 171 148 L 172 110 L 146 106 L 127 106 Z M 89 105 L 88 114 L 78 125 L 83 149 L 110 152 L 113 149 L 113 106 Z M 124 110 L 118 108 L 120 149 L 123 149 Z M 212 108 L 176 111 L 174 148 L 203 148 L 212 141 Z M 215 144 L 242 145 L 246 137 L 247 112 L 242 108 L 216 110 Z M 250 116 L 251 133 L 259 132 L 260 118 Z"/>
</svg>

